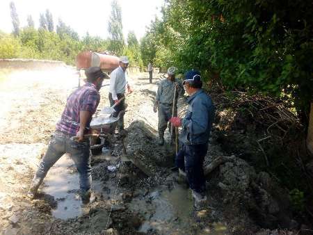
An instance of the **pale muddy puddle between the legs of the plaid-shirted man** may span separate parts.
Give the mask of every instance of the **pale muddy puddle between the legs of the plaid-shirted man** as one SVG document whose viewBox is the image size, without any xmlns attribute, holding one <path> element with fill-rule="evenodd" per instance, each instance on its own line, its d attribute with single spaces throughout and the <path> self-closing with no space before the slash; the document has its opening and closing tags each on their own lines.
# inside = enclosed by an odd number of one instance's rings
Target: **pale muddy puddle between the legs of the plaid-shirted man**
<svg viewBox="0 0 313 235">
<path fill-rule="evenodd" d="M 49 170 L 44 183 L 45 193 L 54 196 L 58 202 L 56 209 L 51 211 L 56 218 L 63 220 L 80 216 L 82 203 L 79 197 L 79 174 L 74 162 L 64 155 Z"/>
</svg>

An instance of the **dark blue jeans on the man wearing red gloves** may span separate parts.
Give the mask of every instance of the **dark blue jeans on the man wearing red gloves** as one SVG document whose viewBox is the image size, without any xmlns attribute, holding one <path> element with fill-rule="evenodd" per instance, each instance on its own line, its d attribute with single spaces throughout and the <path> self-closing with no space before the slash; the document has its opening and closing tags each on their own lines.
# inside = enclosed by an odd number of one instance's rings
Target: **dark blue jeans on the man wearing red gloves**
<svg viewBox="0 0 313 235">
<path fill-rule="evenodd" d="M 207 143 L 201 145 L 182 145 L 176 155 L 175 165 L 186 172 L 190 188 L 197 193 L 204 193 L 205 178 L 203 170 Z"/>
</svg>

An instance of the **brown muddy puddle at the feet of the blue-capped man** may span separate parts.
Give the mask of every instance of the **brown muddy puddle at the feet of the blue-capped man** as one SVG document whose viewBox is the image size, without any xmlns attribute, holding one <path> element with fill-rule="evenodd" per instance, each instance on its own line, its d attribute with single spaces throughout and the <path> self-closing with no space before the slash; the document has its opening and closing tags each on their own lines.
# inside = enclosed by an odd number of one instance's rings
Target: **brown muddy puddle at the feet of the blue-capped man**
<svg viewBox="0 0 313 235">
<path fill-rule="evenodd" d="M 134 199 L 129 207 L 132 211 L 145 213 L 145 221 L 138 232 L 188 234 L 187 230 L 191 227 L 193 213 L 191 193 L 180 185 L 176 185 L 172 191 L 156 189 L 145 198 Z"/>
</svg>

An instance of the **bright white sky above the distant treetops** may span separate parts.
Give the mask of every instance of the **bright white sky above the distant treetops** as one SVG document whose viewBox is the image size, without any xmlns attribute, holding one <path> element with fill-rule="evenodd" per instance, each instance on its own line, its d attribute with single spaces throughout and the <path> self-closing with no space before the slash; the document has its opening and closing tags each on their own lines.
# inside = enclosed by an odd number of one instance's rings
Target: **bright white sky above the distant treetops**
<svg viewBox="0 0 313 235">
<path fill-rule="evenodd" d="M 13 24 L 10 17 L 10 1 L 0 0 L 0 31 L 11 33 Z M 111 0 L 13 0 L 19 15 L 20 26 L 27 25 L 27 16 L 31 15 L 35 27 L 39 26 L 39 15 L 48 8 L 54 17 L 54 30 L 61 18 L 80 36 L 88 32 L 93 36 L 107 38 L 108 22 L 111 15 Z M 145 27 L 156 16 L 161 17 L 164 0 L 118 0 L 122 8 L 123 34 L 127 38 L 134 31 L 138 40 L 145 34 Z"/>
</svg>

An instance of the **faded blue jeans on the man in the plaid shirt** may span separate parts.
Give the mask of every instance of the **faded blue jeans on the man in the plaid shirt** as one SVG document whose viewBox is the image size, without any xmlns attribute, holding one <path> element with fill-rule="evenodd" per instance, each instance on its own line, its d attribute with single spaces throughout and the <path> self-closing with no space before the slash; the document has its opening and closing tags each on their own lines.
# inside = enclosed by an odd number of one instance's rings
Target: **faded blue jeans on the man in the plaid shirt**
<svg viewBox="0 0 313 235">
<path fill-rule="evenodd" d="M 40 161 L 35 177 L 45 178 L 51 168 L 63 154 L 69 154 L 79 172 L 79 184 L 81 191 L 88 191 L 91 186 L 90 144 L 89 142 L 77 142 L 65 136 L 57 134 L 51 137 L 48 150 Z"/>
</svg>

